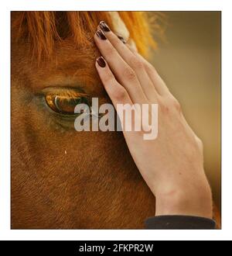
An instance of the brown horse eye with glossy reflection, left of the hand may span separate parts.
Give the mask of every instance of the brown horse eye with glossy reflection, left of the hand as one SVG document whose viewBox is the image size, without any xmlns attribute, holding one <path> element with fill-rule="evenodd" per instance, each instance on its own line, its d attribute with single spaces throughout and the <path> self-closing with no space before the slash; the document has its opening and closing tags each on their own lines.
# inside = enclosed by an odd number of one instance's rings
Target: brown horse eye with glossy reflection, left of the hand
<svg viewBox="0 0 232 256">
<path fill-rule="evenodd" d="M 89 106 L 87 95 L 84 94 L 70 92 L 63 94 L 48 93 L 45 99 L 50 109 L 64 115 L 74 115 L 74 109 L 78 104 L 87 104 Z"/>
</svg>

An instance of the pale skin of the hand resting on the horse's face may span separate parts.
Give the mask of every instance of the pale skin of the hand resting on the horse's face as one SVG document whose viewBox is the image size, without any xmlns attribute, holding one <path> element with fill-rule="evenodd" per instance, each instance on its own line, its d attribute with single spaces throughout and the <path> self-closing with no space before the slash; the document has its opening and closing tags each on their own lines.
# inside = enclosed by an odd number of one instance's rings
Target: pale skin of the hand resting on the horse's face
<svg viewBox="0 0 232 256">
<path fill-rule="evenodd" d="M 98 29 L 101 29 L 98 27 Z M 135 164 L 156 198 L 155 216 L 212 218 L 212 194 L 203 168 L 203 144 L 186 122 L 179 102 L 152 64 L 118 39 L 102 31 L 94 35 L 105 61 L 97 72 L 114 106 L 158 104 L 159 133 L 144 140 L 144 132 L 123 132 Z"/>
</svg>

